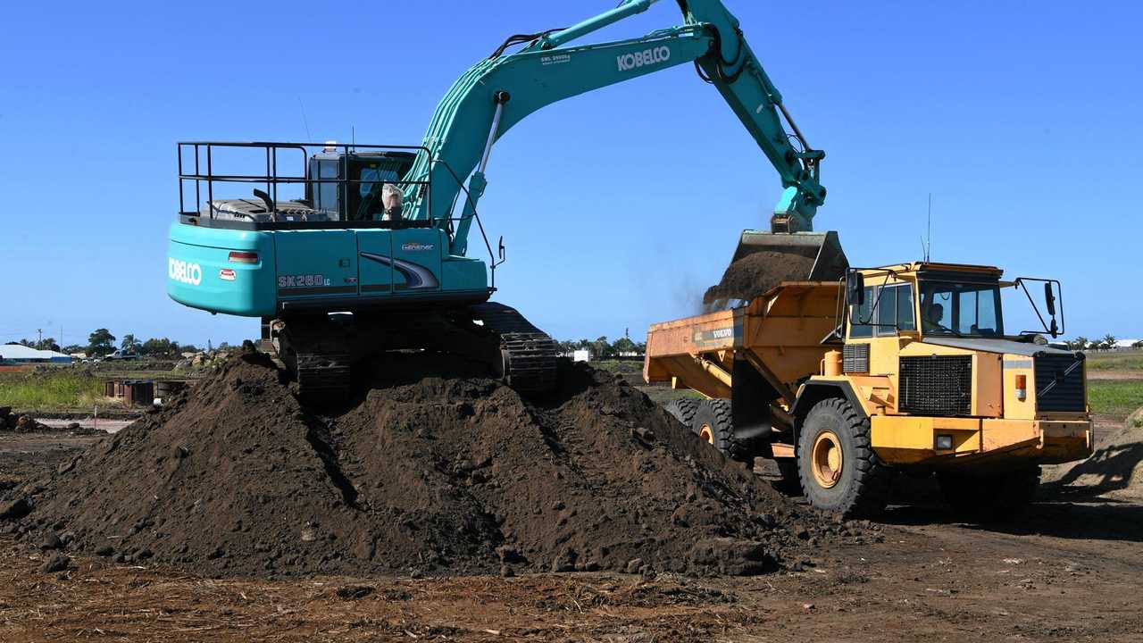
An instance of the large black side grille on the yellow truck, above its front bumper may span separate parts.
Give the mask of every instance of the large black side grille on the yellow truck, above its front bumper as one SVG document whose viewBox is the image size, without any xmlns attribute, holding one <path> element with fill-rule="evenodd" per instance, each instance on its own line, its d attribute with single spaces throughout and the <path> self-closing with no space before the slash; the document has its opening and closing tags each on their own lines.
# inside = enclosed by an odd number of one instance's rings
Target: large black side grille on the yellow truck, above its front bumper
<svg viewBox="0 0 1143 643">
<path fill-rule="evenodd" d="M 902 357 L 900 397 L 898 406 L 906 413 L 968 415 L 973 404 L 973 357 Z"/>
</svg>

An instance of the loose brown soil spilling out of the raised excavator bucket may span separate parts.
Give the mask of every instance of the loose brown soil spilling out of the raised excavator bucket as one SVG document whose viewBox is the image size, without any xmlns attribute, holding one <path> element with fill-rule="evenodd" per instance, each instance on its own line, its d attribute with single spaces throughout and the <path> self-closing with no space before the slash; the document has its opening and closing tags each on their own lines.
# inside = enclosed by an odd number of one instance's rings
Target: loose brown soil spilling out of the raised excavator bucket
<svg viewBox="0 0 1143 643">
<path fill-rule="evenodd" d="M 722 308 L 727 300 L 754 299 L 782 281 L 805 281 L 814 269 L 817 247 L 757 251 L 726 267 L 722 279 L 706 288 L 703 305 Z"/>
</svg>

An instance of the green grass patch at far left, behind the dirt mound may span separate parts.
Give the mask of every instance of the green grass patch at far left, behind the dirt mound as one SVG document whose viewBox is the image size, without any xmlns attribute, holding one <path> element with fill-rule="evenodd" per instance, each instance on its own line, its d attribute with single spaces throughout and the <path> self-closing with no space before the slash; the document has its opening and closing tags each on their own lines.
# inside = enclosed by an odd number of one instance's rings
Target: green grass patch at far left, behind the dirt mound
<svg viewBox="0 0 1143 643">
<path fill-rule="evenodd" d="M 0 406 L 50 411 L 104 403 L 103 381 L 70 368 L 0 373 Z"/>
</svg>

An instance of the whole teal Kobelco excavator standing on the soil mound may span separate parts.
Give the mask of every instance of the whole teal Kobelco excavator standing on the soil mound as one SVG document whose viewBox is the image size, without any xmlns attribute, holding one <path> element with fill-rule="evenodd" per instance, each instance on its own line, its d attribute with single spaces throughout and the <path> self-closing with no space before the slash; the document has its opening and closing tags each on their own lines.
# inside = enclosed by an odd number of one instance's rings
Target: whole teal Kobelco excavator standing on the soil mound
<svg viewBox="0 0 1143 643">
<path fill-rule="evenodd" d="M 453 85 L 421 145 L 178 143 L 169 296 L 262 318 L 263 339 L 312 402 L 345 400 L 354 364 L 394 350 L 477 360 L 517 390 L 542 395 L 555 384 L 558 344 L 489 301 L 505 257 L 503 238 L 494 251 L 477 212 L 493 146 L 545 105 L 684 63 L 718 89 L 783 188 L 769 230 L 745 230 L 732 267 L 764 252 L 799 278 L 839 279 L 848 264 L 837 233 L 813 231 L 825 153 L 807 143 L 721 2 L 677 0 L 679 26 L 573 45 L 656 1 L 626 0 L 566 29 L 511 35 Z M 230 169 L 243 162 L 258 172 Z M 235 183 L 254 184 L 253 198 L 215 197 Z M 473 224 L 487 262 L 469 256 Z M 742 281 L 724 278 L 732 287 L 720 301 L 757 294 L 751 279 L 749 292 L 735 292 Z"/>
</svg>

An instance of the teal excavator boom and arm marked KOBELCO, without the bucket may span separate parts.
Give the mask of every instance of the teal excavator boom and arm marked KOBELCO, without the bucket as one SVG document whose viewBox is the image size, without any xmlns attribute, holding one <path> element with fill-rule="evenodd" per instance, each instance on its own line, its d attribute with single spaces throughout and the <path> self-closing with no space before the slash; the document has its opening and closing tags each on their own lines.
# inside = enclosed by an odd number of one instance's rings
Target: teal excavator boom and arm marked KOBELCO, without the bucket
<svg viewBox="0 0 1143 643">
<path fill-rule="evenodd" d="M 512 37 L 465 72 L 433 114 L 423 142 L 429 153 L 422 152 L 407 175 L 414 181 L 430 178 L 430 188 L 407 191 L 405 212 L 409 219 L 431 220 L 447 228 L 461 199 L 450 252 L 463 255 L 485 190 L 493 144 L 513 125 L 557 101 L 694 62 L 778 170 L 784 191 L 775 207 L 772 231 L 813 230 L 814 214 L 825 199 L 825 189 L 818 183 L 824 153 L 810 149 L 793 125 L 782 95 L 751 51 L 737 19 L 721 2 L 678 0 L 684 25 L 629 40 L 568 46 L 647 10 L 656 1 L 629 0 L 568 29 Z M 520 50 L 504 53 L 507 46 L 522 42 L 526 45 Z M 791 137 L 798 141 L 797 148 Z"/>
</svg>

